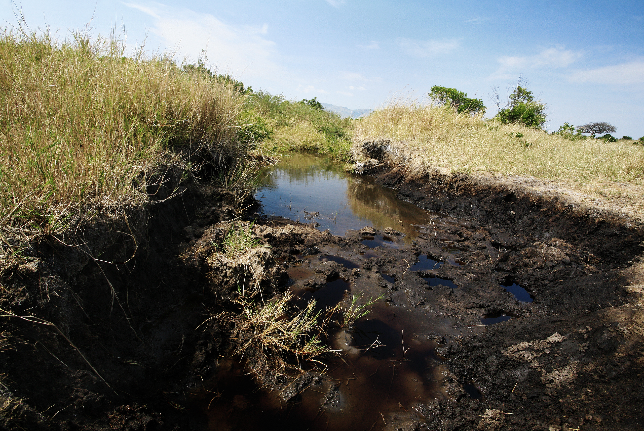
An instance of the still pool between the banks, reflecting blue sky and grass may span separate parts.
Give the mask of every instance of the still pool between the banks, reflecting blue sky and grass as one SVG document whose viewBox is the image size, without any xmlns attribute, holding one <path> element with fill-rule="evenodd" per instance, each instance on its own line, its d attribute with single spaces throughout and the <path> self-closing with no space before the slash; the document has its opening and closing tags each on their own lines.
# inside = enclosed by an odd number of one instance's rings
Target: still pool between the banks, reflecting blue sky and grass
<svg viewBox="0 0 644 431">
<path fill-rule="evenodd" d="M 316 221 L 318 229 L 344 235 L 348 229 L 390 226 L 415 237 L 413 225 L 429 222 L 428 212 L 397 199 L 395 190 L 373 178 L 346 174 L 345 165 L 324 157 L 291 154 L 263 169 L 263 186 L 256 195 L 265 214 Z M 305 212 L 319 212 L 305 220 Z M 310 218 L 310 217 L 308 217 Z"/>
</svg>

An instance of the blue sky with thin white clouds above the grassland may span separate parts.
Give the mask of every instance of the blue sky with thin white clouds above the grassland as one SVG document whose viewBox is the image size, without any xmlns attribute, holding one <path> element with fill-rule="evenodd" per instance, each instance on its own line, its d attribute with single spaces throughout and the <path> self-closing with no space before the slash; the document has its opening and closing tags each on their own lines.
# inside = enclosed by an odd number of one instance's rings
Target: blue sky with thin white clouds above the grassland
<svg viewBox="0 0 644 431">
<path fill-rule="evenodd" d="M 25 1 L 0 23 L 47 23 L 65 37 L 91 21 L 128 44 L 172 50 L 254 88 L 351 109 L 456 87 L 495 112 L 492 86 L 521 73 L 549 105 L 548 129 L 607 121 L 644 135 L 643 1 Z"/>
</svg>

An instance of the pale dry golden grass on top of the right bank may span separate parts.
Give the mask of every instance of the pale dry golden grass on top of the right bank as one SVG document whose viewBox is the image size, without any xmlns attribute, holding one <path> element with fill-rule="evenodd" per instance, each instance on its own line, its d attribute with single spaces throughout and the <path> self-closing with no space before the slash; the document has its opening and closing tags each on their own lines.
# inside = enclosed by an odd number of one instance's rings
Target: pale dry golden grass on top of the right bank
<svg viewBox="0 0 644 431">
<path fill-rule="evenodd" d="M 642 185 L 644 178 L 642 145 L 571 141 L 520 125 L 458 115 L 450 107 L 392 102 L 378 109 L 356 122 L 354 157 L 363 157 L 361 142 L 374 138 L 406 141 L 413 152 L 412 160 L 406 161 L 412 174 L 423 174 L 433 165 L 452 172 L 484 170 L 568 183 Z"/>
</svg>

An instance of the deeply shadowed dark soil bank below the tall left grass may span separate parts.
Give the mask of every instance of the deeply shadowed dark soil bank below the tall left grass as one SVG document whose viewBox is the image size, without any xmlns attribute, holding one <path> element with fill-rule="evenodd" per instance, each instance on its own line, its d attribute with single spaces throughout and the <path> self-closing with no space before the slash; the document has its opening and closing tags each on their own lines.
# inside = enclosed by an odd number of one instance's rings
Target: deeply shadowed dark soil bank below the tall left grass
<svg viewBox="0 0 644 431">
<path fill-rule="evenodd" d="M 1 429 L 204 429 L 176 400 L 216 361 L 218 328 L 194 329 L 222 307 L 207 268 L 179 255 L 236 212 L 222 190 L 179 191 L 33 244 L 37 271 L 2 280 Z"/>
</svg>

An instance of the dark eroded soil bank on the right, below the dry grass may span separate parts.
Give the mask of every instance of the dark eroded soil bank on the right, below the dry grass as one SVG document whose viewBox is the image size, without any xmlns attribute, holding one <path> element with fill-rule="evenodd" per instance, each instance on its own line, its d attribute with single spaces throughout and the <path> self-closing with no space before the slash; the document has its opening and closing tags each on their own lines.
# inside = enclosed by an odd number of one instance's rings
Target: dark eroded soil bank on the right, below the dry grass
<svg viewBox="0 0 644 431">
<path fill-rule="evenodd" d="M 430 428 L 639 428 L 641 220 L 619 206 L 544 190 L 534 179 L 451 175 L 439 168 L 428 169 L 424 178 L 405 179 L 395 151 L 392 142 L 366 142 L 365 152 L 374 160 L 361 171 L 422 208 L 467 219 L 473 235 L 454 227 L 426 237 L 467 244 L 479 257 L 472 262 L 476 268 L 488 266 L 493 277 L 516 282 L 535 297 L 529 317 L 486 327 L 439 349 L 459 383 L 473 382 L 484 399 L 428 407 L 435 415 Z M 478 270 L 469 268 L 464 271 L 478 284 Z M 467 308 L 488 306 L 487 298 L 473 297 Z M 513 414 L 473 414 L 475 406 Z"/>
</svg>

